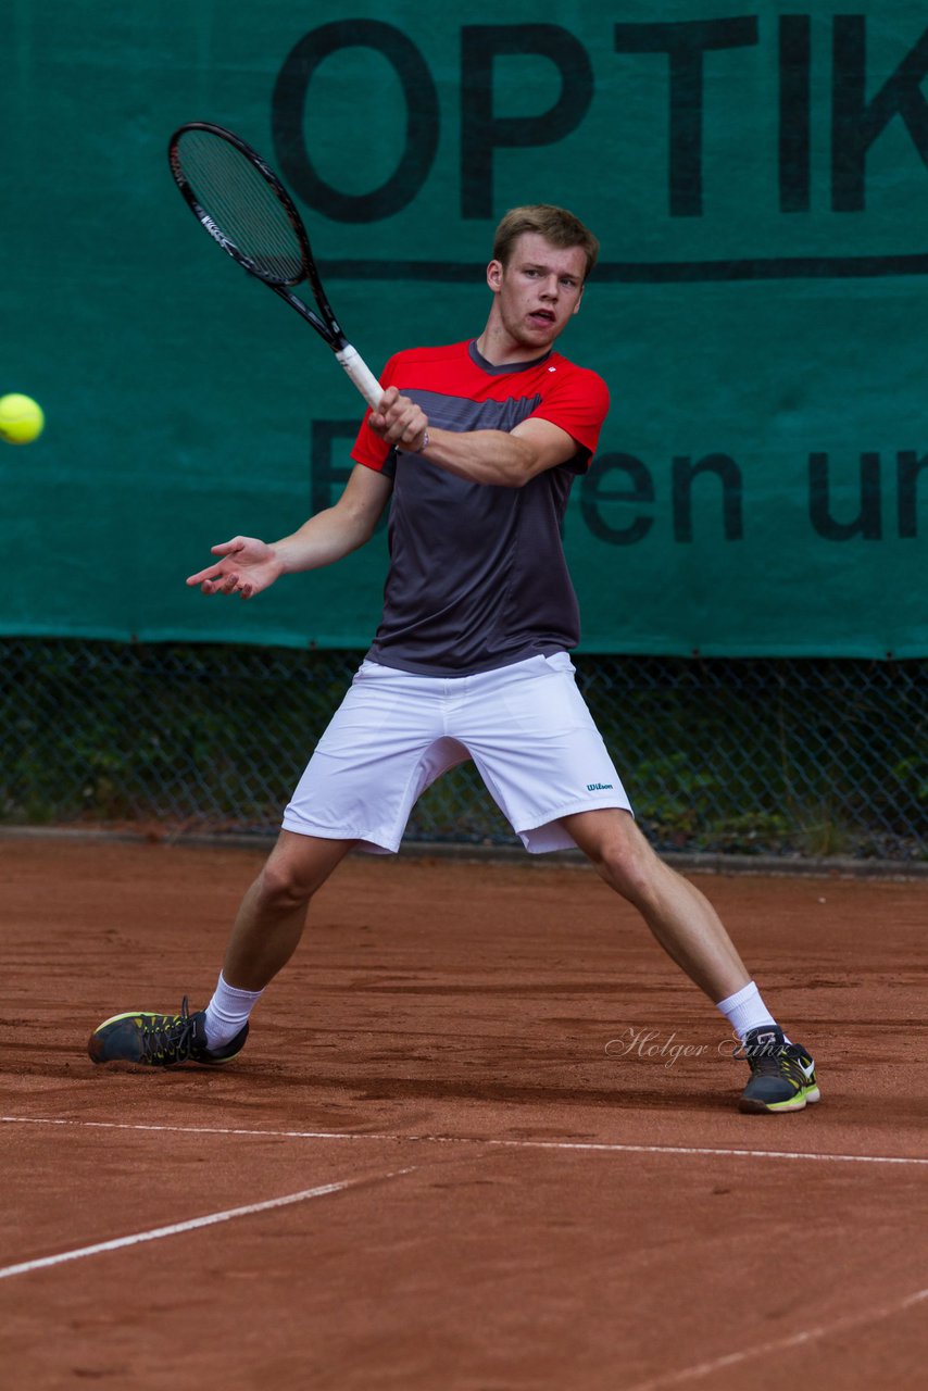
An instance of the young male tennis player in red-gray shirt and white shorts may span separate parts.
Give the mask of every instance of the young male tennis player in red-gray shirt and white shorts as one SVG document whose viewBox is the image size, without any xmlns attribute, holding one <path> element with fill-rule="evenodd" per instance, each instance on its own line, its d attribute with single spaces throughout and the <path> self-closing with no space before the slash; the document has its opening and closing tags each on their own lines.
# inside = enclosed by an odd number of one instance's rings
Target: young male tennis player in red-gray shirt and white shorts
<svg viewBox="0 0 928 1391">
<path fill-rule="evenodd" d="M 366 416 L 338 502 L 269 545 L 235 537 L 191 576 L 252 598 L 363 545 L 391 501 L 384 613 L 232 926 L 206 1010 L 117 1014 L 96 1063 L 224 1063 L 295 950 L 314 892 L 353 847 L 391 853 L 420 793 L 473 758 L 530 853 L 579 846 L 641 912 L 743 1043 L 742 1110 L 818 1100 L 810 1054 L 767 1011 L 704 896 L 651 851 L 573 682 L 577 604 L 561 545 L 573 479 L 595 451 L 605 384 L 554 344 L 580 309 L 598 242 L 563 209 L 497 228 L 487 324 L 473 342 L 402 352 Z"/>
</svg>

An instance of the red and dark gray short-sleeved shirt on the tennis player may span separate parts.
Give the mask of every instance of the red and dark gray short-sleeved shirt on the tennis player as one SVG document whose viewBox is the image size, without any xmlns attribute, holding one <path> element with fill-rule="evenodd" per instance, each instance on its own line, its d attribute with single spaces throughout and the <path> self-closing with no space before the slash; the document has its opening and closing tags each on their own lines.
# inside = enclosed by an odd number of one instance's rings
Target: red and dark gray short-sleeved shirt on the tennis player
<svg viewBox="0 0 928 1391">
<path fill-rule="evenodd" d="M 440 430 L 513 430 L 536 417 L 577 451 L 522 488 L 469 483 L 365 424 L 356 463 L 394 477 L 384 613 L 367 657 L 424 676 L 469 676 L 576 647 L 577 600 L 561 527 L 609 406 L 605 383 L 548 352 L 494 367 L 473 342 L 397 353 L 381 383 Z"/>
</svg>

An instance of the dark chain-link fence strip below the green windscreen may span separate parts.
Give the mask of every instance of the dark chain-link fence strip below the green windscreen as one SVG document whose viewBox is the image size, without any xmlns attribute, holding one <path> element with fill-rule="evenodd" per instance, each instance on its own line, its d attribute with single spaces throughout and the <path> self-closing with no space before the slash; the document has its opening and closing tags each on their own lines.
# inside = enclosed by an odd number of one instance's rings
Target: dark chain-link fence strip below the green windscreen
<svg viewBox="0 0 928 1391">
<path fill-rule="evenodd" d="M 262 830 L 358 652 L 0 640 L 6 823 Z M 661 850 L 928 860 L 928 662 L 579 657 Z M 473 765 L 409 837 L 508 844 Z"/>
</svg>

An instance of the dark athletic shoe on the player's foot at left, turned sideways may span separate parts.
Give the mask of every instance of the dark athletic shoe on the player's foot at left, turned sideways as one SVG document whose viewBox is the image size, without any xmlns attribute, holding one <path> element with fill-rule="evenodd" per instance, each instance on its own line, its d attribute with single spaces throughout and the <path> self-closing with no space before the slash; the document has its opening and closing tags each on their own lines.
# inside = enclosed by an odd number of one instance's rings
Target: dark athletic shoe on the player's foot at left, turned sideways
<svg viewBox="0 0 928 1391">
<path fill-rule="evenodd" d="M 129 1010 L 104 1020 L 88 1040 L 95 1063 L 141 1063 L 145 1067 L 174 1067 L 177 1063 L 228 1063 L 245 1046 L 248 1024 L 231 1043 L 206 1046 L 206 1010 L 191 1014 L 186 996 L 179 1014 L 150 1014 Z"/>
</svg>

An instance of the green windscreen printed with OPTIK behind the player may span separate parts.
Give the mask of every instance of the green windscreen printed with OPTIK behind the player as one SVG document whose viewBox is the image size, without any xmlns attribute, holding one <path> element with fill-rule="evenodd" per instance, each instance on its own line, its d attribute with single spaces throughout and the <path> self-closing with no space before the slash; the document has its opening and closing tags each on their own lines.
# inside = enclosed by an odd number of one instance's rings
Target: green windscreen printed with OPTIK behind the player
<svg viewBox="0 0 928 1391">
<path fill-rule="evenodd" d="M 924 6 L 13 0 L 0 122 L 0 632 L 363 647 L 381 531 L 250 604 L 184 579 L 338 495 L 363 405 L 198 228 L 166 147 L 228 125 L 374 370 L 477 335 L 502 213 L 601 263 L 559 348 L 608 383 L 565 544 L 591 651 L 928 652 Z M 462 22 L 465 21 L 466 22 Z"/>
</svg>

